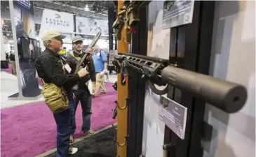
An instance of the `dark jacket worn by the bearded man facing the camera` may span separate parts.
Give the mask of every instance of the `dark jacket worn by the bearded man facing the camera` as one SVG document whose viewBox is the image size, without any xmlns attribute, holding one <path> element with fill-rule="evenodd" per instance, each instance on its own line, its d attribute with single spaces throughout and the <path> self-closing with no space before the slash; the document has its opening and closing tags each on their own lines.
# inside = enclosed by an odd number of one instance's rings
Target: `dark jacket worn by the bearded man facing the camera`
<svg viewBox="0 0 256 157">
<path fill-rule="evenodd" d="M 82 54 L 76 54 L 75 52 L 73 53 L 74 57 L 72 55 L 69 54 L 69 56 L 67 57 L 68 59 L 68 63 L 69 65 L 71 65 L 72 67 L 72 71 L 74 71 L 74 68 L 76 67 L 76 63 L 78 62 L 77 59 L 83 57 Z M 86 55 L 83 54 L 83 55 Z M 76 63 L 74 64 L 74 61 L 72 61 L 72 58 L 73 59 L 76 59 Z M 72 66 L 72 64 L 74 64 L 74 66 Z M 81 78 L 81 81 L 79 82 L 79 89 L 88 89 L 88 87 L 86 86 L 86 82 L 88 82 L 89 80 L 91 80 L 92 82 L 95 82 L 96 81 L 96 73 L 95 73 L 95 66 L 94 66 L 94 63 L 93 63 L 93 58 L 90 58 L 90 60 L 88 61 L 88 64 L 87 64 L 87 67 L 88 67 L 88 72 L 89 72 L 89 75 L 86 75 L 84 77 Z"/>
</svg>

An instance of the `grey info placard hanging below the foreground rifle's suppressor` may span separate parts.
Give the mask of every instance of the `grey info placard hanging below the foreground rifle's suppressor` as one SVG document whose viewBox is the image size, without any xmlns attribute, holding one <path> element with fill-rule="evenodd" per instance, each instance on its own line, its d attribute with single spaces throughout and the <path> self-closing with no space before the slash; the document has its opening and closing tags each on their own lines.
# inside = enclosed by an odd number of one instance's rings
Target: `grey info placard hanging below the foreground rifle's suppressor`
<svg viewBox="0 0 256 157">
<path fill-rule="evenodd" d="M 174 100 L 166 96 L 160 97 L 159 119 L 163 121 L 173 132 L 184 140 L 186 123 L 187 123 L 187 107 L 176 103 Z"/>
</svg>

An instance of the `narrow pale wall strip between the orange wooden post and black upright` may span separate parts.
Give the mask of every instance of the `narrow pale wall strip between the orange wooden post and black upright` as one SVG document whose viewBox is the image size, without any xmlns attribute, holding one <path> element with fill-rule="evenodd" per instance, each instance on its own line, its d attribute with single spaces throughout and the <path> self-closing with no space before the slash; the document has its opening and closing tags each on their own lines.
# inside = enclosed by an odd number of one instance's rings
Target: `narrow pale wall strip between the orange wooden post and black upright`
<svg viewBox="0 0 256 157">
<path fill-rule="evenodd" d="M 169 58 L 170 29 L 162 30 L 163 1 L 149 3 L 149 31 L 147 56 Z M 157 87 L 163 89 L 162 87 Z M 159 119 L 160 96 L 146 88 L 144 98 L 144 126 L 142 155 L 147 157 L 163 156 L 163 121 Z"/>
</svg>

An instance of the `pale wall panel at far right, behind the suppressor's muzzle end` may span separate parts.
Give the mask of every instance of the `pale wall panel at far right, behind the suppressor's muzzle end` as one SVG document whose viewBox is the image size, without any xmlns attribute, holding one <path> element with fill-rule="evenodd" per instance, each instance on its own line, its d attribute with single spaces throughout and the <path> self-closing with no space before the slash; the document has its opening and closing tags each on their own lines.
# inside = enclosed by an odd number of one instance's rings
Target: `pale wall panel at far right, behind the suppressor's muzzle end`
<svg viewBox="0 0 256 157">
<path fill-rule="evenodd" d="M 210 141 L 202 142 L 204 157 L 254 157 L 255 1 L 215 2 L 210 74 L 243 84 L 248 100 L 235 114 L 206 106 L 205 121 L 213 126 L 213 133 Z"/>
</svg>

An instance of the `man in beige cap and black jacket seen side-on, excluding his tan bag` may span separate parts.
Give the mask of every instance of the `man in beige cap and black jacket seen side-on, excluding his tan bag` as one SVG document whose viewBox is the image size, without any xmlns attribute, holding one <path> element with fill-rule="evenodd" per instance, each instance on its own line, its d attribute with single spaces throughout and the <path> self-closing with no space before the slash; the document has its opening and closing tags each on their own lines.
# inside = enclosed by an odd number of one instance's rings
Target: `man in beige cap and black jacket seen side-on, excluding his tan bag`
<svg viewBox="0 0 256 157">
<path fill-rule="evenodd" d="M 57 157 L 67 157 L 68 154 L 75 154 L 78 150 L 74 147 L 69 149 L 73 117 L 72 108 L 74 106 L 71 89 L 80 82 L 82 77 L 88 74 L 86 68 L 81 68 L 78 73 L 70 73 L 69 65 L 58 54 L 63 38 L 65 36 L 58 33 L 58 31 L 47 31 L 42 38 L 46 50 L 36 61 L 36 70 L 39 77 L 46 83 L 53 83 L 58 87 L 63 87 L 67 91 L 67 97 L 69 98 L 69 109 L 53 114 L 58 132 Z M 92 53 L 93 50 L 88 50 L 88 52 Z"/>
</svg>

